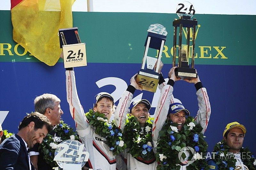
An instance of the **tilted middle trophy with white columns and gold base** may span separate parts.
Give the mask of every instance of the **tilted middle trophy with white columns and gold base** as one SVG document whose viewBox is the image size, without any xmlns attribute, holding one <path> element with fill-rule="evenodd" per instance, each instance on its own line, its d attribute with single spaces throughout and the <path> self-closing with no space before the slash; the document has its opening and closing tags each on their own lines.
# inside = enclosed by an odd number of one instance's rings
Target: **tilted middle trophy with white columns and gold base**
<svg viewBox="0 0 256 170">
<path fill-rule="evenodd" d="M 159 69 L 164 43 L 166 41 L 166 35 L 167 31 L 161 24 L 152 24 L 148 28 L 148 36 L 144 44 L 145 52 L 142 59 L 141 69 L 136 78 L 136 82 L 143 90 L 156 92 L 159 81 L 159 74 L 157 70 Z M 150 48 L 159 50 L 157 58 L 148 56 L 148 50 Z M 146 63 L 147 68 L 145 68 Z M 156 71 L 154 71 L 155 64 Z"/>
</svg>

